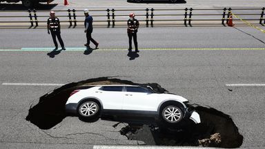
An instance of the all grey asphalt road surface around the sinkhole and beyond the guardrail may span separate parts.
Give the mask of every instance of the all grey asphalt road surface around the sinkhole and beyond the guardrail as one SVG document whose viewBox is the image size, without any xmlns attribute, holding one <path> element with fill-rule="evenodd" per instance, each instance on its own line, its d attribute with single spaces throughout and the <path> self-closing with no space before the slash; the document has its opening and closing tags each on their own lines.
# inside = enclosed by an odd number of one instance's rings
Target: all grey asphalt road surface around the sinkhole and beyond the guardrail
<svg viewBox="0 0 265 149">
<path fill-rule="evenodd" d="M 197 1 L 193 5 L 226 6 L 226 3 L 206 2 Z M 261 6 L 262 1 L 256 2 L 249 6 Z M 84 6 L 84 1 L 71 3 L 80 8 Z M 96 1 L 89 4 L 93 3 L 95 7 L 99 4 Z M 229 3 L 231 6 L 244 6 L 246 1 Z M 104 4 L 106 1 L 100 1 L 100 6 L 104 7 Z M 128 3 L 115 1 L 108 5 L 124 7 Z M 145 5 L 148 4 L 140 4 Z M 152 5 L 172 7 L 170 3 Z M 70 6 L 59 5 L 55 9 L 67 7 Z M 259 27 L 265 29 L 264 26 Z M 265 83 L 265 35 L 259 30 L 249 26 L 140 28 L 139 57 L 133 60 L 127 56 L 126 28 L 95 28 L 92 35 L 100 43 L 99 50 L 85 54 L 83 29 L 63 28 L 61 34 L 67 50 L 50 57 L 52 39 L 46 30 L 1 30 L 0 148 L 92 148 L 94 145 L 143 144 L 120 135 L 119 130 L 126 124 L 121 123 L 114 128 L 112 126 L 117 123 L 114 121 L 86 123 L 77 117 L 66 117 L 57 126 L 41 130 L 26 121 L 28 110 L 39 102 L 39 97 L 59 86 L 3 84 L 65 84 L 97 77 L 159 83 L 166 90 L 186 97 L 190 103 L 210 106 L 230 115 L 244 137 L 240 148 L 265 147 L 264 86 L 227 86 Z"/>
</svg>

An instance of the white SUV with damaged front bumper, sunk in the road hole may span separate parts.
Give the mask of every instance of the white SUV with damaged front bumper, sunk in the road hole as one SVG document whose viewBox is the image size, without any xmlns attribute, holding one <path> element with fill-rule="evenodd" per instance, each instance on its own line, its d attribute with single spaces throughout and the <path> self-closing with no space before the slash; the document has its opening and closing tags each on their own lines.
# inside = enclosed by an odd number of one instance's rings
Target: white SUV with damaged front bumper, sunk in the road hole
<svg viewBox="0 0 265 149">
<path fill-rule="evenodd" d="M 81 119 L 118 116 L 127 119 L 179 123 L 184 118 L 200 123 L 199 114 L 188 112 L 184 97 L 155 92 L 150 86 L 102 85 L 75 90 L 66 102 L 66 112 Z"/>
</svg>

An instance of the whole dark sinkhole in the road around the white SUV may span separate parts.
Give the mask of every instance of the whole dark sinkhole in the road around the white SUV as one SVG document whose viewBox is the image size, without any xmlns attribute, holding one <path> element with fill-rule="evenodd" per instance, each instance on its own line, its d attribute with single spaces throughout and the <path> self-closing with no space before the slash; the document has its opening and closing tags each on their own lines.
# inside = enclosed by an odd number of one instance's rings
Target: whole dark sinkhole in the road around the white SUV
<svg viewBox="0 0 265 149">
<path fill-rule="evenodd" d="M 48 130 L 60 123 L 66 115 L 65 104 L 73 90 L 88 88 L 88 85 L 97 84 L 129 84 L 151 86 L 157 92 L 168 92 L 158 83 L 133 83 L 132 81 L 100 77 L 69 83 L 53 90 L 50 94 L 43 95 L 39 103 L 30 106 L 27 121 Z M 148 126 L 146 123 L 128 124 L 120 130 L 121 135 L 128 139 L 144 141 L 146 145 L 157 146 L 211 146 L 220 148 L 239 148 L 243 143 L 243 136 L 239 134 L 237 126 L 229 116 L 215 110 L 198 105 L 188 105 L 200 115 L 202 123 L 195 124 L 185 121 L 181 126 Z M 118 124 L 117 124 L 118 125 Z"/>
</svg>

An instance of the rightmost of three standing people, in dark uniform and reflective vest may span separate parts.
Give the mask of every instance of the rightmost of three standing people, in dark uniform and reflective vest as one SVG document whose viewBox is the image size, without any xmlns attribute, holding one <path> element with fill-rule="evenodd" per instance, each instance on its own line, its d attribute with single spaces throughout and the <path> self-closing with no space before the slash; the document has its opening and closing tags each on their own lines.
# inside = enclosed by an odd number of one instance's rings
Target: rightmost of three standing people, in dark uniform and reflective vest
<svg viewBox="0 0 265 149">
<path fill-rule="evenodd" d="M 130 13 L 129 14 L 130 19 L 127 21 L 127 33 L 129 37 L 129 52 L 132 52 L 132 38 L 135 43 L 135 52 L 139 52 L 138 50 L 138 44 L 137 44 L 137 31 L 139 28 L 139 21 L 135 19 L 135 14 Z"/>
</svg>

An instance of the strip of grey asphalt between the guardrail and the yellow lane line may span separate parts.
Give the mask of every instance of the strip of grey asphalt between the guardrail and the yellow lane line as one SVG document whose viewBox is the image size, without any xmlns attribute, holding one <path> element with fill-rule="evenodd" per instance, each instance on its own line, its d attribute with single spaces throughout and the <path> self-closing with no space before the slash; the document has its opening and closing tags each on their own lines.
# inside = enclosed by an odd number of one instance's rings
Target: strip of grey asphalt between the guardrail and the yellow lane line
<svg viewBox="0 0 265 149">
<path fill-rule="evenodd" d="M 260 26 L 264 28 L 264 26 Z M 23 37 L 21 35 L 23 34 Z M 264 33 L 252 27 L 157 27 L 139 28 L 139 48 L 264 48 Z M 86 43 L 84 29 L 61 30 L 68 48 Z M 102 49 L 128 48 L 126 28 L 95 28 L 92 37 Z M 46 29 L 1 30 L 1 49 L 51 48 L 53 42 Z M 91 43 L 92 44 L 92 43 Z M 92 47 L 94 45 L 91 45 Z"/>
</svg>

